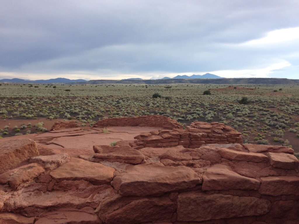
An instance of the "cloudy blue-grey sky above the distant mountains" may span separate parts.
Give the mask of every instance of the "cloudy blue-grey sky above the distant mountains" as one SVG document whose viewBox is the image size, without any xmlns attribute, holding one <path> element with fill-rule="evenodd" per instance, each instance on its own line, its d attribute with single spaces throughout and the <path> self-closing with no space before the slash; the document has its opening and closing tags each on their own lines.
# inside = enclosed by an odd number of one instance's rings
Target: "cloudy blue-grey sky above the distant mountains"
<svg viewBox="0 0 299 224">
<path fill-rule="evenodd" d="M 299 79 L 298 0 L 0 5 L 0 79 Z"/>
</svg>

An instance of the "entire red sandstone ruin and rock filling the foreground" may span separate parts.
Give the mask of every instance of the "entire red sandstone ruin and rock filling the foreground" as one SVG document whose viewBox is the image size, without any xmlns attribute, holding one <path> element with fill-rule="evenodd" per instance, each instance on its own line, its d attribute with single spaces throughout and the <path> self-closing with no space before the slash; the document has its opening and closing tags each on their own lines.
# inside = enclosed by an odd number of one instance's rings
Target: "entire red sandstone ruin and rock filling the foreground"
<svg viewBox="0 0 299 224">
<path fill-rule="evenodd" d="M 0 139 L 0 223 L 299 223 L 291 148 L 243 145 L 222 123 L 118 119 Z"/>
</svg>

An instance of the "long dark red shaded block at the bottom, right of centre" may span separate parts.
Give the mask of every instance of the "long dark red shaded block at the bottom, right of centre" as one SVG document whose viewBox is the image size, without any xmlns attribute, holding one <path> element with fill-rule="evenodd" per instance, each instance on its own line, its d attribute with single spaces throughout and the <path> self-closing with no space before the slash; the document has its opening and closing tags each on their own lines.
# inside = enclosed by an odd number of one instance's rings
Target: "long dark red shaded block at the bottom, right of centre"
<svg viewBox="0 0 299 224">
<path fill-rule="evenodd" d="M 237 197 L 223 194 L 183 192 L 178 196 L 178 221 L 258 216 L 270 211 L 271 203 L 257 197 Z"/>
</svg>

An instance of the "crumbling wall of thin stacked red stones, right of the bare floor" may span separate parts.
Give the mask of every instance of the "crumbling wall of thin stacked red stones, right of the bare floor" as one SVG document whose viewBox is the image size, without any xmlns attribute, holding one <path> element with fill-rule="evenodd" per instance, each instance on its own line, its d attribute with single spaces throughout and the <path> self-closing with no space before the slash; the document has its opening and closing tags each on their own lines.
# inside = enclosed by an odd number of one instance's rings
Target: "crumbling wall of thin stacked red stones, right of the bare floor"
<svg viewBox="0 0 299 224">
<path fill-rule="evenodd" d="M 193 122 L 186 129 L 159 130 L 135 137 L 132 146 L 167 148 L 182 145 L 185 148 L 199 148 L 205 144 L 243 143 L 242 134 L 233 128 L 218 122 Z"/>
</svg>

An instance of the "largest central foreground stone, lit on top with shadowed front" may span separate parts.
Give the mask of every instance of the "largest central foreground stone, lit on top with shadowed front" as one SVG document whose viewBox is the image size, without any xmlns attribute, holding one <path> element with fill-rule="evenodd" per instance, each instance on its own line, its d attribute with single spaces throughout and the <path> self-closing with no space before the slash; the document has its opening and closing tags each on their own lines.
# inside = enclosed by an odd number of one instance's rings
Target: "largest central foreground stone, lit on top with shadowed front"
<svg viewBox="0 0 299 224">
<path fill-rule="evenodd" d="M 111 184 L 122 195 L 145 196 L 193 188 L 201 182 L 201 177 L 188 167 L 152 163 L 127 168 Z"/>
</svg>

